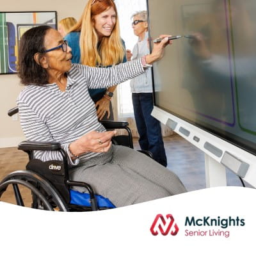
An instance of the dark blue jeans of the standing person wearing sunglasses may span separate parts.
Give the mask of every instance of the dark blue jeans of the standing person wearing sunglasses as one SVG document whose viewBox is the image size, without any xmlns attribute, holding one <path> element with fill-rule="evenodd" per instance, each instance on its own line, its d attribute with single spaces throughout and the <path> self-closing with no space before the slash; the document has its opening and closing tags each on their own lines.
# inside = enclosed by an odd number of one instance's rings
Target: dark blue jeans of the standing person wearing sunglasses
<svg viewBox="0 0 256 256">
<path fill-rule="evenodd" d="M 167 166 L 161 125 L 151 115 L 154 107 L 152 93 L 132 93 L 132 104 L 141 149 L 152 152 L 158 163 Z"/>
</svg>

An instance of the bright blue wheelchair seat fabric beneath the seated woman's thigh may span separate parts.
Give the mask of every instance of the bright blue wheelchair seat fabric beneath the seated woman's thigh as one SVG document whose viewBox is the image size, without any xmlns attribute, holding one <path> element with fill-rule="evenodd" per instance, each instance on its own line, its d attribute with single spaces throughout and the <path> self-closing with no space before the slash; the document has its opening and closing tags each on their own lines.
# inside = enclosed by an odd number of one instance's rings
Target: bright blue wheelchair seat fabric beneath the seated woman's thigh
<svg viewBox="0 0 256 256">
<path fill-rule="evenodd" d="M 98 207 L 116 208 L 108 198 L 104 196 L 95 195 Z M 90 195 L 88 193 L 81 193 L 70 189 L 70 204 L 82 205 L 90 207 Z"/>
</svg>

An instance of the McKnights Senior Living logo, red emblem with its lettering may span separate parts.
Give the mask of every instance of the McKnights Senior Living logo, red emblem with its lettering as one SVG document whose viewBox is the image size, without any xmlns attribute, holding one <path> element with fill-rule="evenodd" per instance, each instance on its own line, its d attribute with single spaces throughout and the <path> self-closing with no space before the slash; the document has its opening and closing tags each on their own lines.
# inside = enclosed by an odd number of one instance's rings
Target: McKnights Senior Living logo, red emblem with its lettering
<svg viewBox="0 0 256 256">
<path fill-rule="evenodd" d="M 176 236 L 179 232 L 178 225 L 180 225 L 180 223 L 176 223 L 172 214 L 166 214 L 166 217 L 162 214 L 157 214 L 150 227 L 150 232 L 153 236 L 157 236 L 158 234 L 162 234 L 163 236 Z M 228 227 L 243 227 L 244 225 L 244 219 L 239 218 L 239 216 L 228 216 L 228 218 L 221 218 L 220 216 L 216 218 L 211 218 L 211 216 L 203 216 L 202 218 L 195 218 L 195 216 L 186 216 L 184 222 L 184 226 L 186 227 L 184 236 L 218 236 L 227 238 L 230 236 L 230 230 L 228 230 Z"/>
</svg>

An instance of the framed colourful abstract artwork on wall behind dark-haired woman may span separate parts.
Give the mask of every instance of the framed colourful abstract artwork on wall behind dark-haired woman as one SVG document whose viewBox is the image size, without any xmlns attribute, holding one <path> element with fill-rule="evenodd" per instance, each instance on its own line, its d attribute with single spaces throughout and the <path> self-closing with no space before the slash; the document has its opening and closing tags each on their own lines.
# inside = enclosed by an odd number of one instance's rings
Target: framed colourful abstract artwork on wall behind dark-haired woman
<svg viewBox="0 0 256 256">
<path fill-rule="evenodd" d="M 28 29 L 47 25 L 56 29 L 57 12 L 0 12 L 0 74 L 17 72 L 20 37 Z"/>
</svg>

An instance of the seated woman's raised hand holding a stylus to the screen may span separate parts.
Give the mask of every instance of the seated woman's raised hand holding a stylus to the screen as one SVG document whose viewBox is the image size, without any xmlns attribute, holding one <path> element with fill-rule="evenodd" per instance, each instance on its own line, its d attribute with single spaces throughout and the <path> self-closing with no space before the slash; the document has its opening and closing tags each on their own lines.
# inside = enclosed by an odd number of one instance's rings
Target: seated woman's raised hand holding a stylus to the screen
<svg viewBox="0 0 256 256">
<path fill-rule="evenodd" d="M 172 44 L 172 41 L 168 40 L 168 36 L 171 35 L 161 35 L 159 38 L 163 38 L 163 40 L 159 43 L 154 43 L 153 50 L 151 54 L 148 54 L 146 56 L 146 62 L 147 64 L 152 64 L 153 62 L 160 60 L 163 58 L 164 55 L 164 47 L 168 44 Z"/>
</svg>

